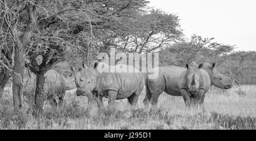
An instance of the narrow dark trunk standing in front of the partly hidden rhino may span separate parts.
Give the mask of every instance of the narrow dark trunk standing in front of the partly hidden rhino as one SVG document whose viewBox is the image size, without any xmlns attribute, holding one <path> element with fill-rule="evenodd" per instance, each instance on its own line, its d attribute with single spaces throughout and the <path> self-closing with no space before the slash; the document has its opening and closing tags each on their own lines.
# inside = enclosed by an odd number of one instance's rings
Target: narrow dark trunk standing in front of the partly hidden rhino
<svg viewBox="0 0 256 141">
<path fill-rule="evenodd" d="M 44 95 L 44 71 L 40 71 L 36 74 L 36 91 L 35 91 L 35 109 L 34 115 L 37 116 L 43 112 L 44 100 L 46 100 L 46 95 Z"/>
</svg>

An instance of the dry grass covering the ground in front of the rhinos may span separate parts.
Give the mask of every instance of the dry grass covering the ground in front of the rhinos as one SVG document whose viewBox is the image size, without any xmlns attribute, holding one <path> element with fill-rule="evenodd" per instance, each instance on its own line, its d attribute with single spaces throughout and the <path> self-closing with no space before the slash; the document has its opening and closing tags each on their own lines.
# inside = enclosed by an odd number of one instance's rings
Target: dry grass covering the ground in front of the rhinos
<svg viewBox="0 0 256 141">
<path fill-rule="evenodd" d="M 0 129 L 255 129 L 256 86 L 222 90 L 213 87 L 204 108 L 185 108 L 182 97 L 163 93 L 157 108 L 144 108 L 144 91 L 136 108 L 127 100 L 114 107 L 88 108 L 86 97 L 67 91 L 65 105 L 53 112 L 46 102 L 39 118 L 13 113 L 11 88 L 0 101 Z"/>
</svg>

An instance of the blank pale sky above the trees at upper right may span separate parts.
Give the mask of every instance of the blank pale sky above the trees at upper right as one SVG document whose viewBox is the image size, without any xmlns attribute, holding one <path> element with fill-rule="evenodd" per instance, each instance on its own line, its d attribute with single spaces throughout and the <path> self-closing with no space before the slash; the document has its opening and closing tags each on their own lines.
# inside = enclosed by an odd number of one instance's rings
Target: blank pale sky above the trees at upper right
<svg viewBox="0 0 256 141">
<path fill-rule="evenodd" d="M 236 50 L 256 50 L 255 0 L 149 0 L 149 6 L 177 14 L 185 36 L 194 33 L 236 45 Z"/>
</svg>

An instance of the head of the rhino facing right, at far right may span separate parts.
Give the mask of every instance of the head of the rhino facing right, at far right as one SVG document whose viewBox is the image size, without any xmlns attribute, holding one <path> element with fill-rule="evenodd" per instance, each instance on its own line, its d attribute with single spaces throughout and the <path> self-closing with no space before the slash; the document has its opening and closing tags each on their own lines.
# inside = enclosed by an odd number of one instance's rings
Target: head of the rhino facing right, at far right
<svg viewBox="0 0 256 141">
<path fill-rule="evenodd" d="M 216 63 L 212 63 L 212 65 L 210 65 L 209 63 L 201 63 L 199 65 L 199 68 L 203 68 L 208 72 L 210 76 L 210 81 L 214 86 L 222 89 L 232 88 L 233 80 L 230 77 L 225 76 L 220 72 L 218 72 L 216 66 L 217 66 Z"/>
</svg>

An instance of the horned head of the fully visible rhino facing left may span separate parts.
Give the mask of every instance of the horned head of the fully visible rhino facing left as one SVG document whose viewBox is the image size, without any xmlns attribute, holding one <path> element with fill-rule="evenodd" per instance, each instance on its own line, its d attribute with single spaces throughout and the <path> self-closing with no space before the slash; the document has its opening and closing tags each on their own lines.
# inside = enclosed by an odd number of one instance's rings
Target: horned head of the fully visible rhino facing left
<svg viewBox="0 0 256 141">
<path fill-rule="evenodd" d="M 96 87 L 97 65 L 98 61 L 94 61 L 91 67 L 83 65 L 77 71 L 71 67 L 77 87 L 77 96 L 86 96 L 92 93 L 93 89 Z"/>
</svg>

